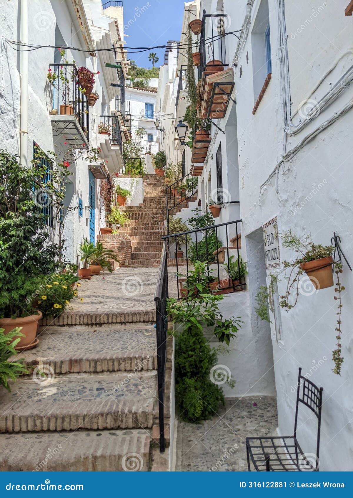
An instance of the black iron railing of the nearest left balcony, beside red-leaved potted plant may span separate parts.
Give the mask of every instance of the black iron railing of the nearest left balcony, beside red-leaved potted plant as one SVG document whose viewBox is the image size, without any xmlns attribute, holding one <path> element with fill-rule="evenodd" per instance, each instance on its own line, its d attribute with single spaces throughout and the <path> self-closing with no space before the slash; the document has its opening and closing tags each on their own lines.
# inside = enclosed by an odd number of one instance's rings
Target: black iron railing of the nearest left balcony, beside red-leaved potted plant
<svg viewBox="0 0 353 498">
<path fill-rule="evenodd" d="M 77 67 L 75 64 L 50 64 L 49 68 L 52 78 L 57 77 L 53 80 L 53 109 L 60 114 L 74 115 L 89 141 L 89 106 L 85 93 L 80 90 Z"/>
</svg>

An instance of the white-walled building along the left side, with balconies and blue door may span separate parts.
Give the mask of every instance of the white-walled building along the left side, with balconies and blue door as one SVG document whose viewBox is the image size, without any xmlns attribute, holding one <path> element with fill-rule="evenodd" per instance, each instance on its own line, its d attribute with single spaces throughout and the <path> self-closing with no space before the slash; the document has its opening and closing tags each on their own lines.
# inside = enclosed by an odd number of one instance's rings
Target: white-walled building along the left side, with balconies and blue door
<svg viewBox="0 0 353 498">
<path fill-rule="evenodd" d="M 106 167 L 109 173 L 123 168 L 122 143 L 128 138 L 121 106 L 115 106 L 116 97 L 118 102 L 124 98 L 129 64 L 123 49 L 123 7 L 121 2 L 109 4 L 103 9 L 100 0 L 6 2 L 6 18 L 0 21 L 1 148 L 19 153 L 22 164 L 30 164 L 34 146 L 54 150 L 59 160 L 70 162 L 73 175 L 65 203 L 78 207 L 65 216 L 66 258 L 71 262 L 78 261 L 83 238 L 94 241 L 99 234 L 99 213 L 104 218 L 100 183 L 107 176 Z M 22 45 L 4 38 L 21 39 Z M 27 43 L 40 47 L 25 51 Z M 62 57 L 60 48 L 65 47 L 74 49 L 66 49 Z M 81 66 L 96 73 L 93 90 L 99 98 L 94 107 L 79 91 L 77 78 L 72 79 L 74 68 Z M 59 75 L 54 87 L 47 79 L 48 69 Z M 67 78 L 65 88 L 60 75 Z M 62 114 L 63 104 L 72 106 L 73 114 Z M 101 122 L 110 124 L 110 136 L 98 133 Z M 101 149 L 95 164 L 85 160 L 92 147 Z M 55 239 L 57 227 L 52 225 Z"/>
</svg>

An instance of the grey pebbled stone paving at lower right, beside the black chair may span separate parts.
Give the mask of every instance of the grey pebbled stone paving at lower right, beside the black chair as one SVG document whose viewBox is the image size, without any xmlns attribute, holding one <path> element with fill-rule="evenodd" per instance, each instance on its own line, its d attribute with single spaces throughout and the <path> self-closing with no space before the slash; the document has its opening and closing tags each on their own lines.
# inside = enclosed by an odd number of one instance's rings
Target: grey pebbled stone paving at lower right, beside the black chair
<svg viewBox="0 0 353 498">
<path fill-rule="evenodd" d="M 272 396 L 228 400 L 217 416 L 202 424 L 179 418 L 176 471 L 247 471 L 245 438 L 275 435 L 276 427 L 277 405 Z"/>
</svg>

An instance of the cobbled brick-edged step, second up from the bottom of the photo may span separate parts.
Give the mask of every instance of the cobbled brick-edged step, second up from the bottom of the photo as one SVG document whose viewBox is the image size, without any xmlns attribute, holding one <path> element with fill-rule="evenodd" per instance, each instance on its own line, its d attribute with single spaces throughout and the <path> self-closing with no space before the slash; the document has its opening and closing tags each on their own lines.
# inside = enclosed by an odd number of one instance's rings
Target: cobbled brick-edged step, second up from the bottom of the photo
<svg viewBox="0 0 353 498">
<path fill-rule="evenodd" d="M 39 383 L 38 383 L 39 382 Z M 0 432 L 150 428 L 157 373 L 69 374 L 1 388 Z M 40 385 L 39 385 L 40 384 Z"/>
</svg>

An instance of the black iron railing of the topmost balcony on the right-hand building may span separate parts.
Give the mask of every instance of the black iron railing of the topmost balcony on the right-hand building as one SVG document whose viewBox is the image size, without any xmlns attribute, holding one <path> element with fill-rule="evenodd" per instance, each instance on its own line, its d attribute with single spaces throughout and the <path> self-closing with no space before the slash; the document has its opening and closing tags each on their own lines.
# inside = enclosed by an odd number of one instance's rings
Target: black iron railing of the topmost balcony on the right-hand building
<svg viewBox="0 0 353 498">
<path fill-rule="evenodd" d="M 215 14 L 206 14 L 206 10 L 202 12 L 202 29 L 200 33 L 200 41 L 199 41 L 199 52 L 200 52 L 200 65 L 197 68 L 198 79 L 202 79 L 202 74 L 205 70 L 206 64 L 208 62 L 212 62 L 212 60 L 220 60 L 223 66 L 229 66 L 229 64 L 225 64 L 225 38 L 224 38 L 224 29 L 221 33 L 214 34 L 213 22 L 210 22 L 211 26 L 211 36 L 207 36 L 207 56 L 206 56 L 206 19 L 208 17 L 227 17 L 227 14 L 219 12 Z M 208 23 L 207 23 L 208 25 Z M 217 42 L 217 44 L 216 44 Z M 210 55 L 211 54 L 211 55 Z"/>
</svg>

